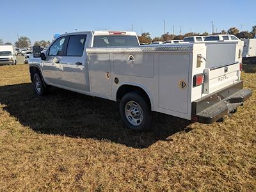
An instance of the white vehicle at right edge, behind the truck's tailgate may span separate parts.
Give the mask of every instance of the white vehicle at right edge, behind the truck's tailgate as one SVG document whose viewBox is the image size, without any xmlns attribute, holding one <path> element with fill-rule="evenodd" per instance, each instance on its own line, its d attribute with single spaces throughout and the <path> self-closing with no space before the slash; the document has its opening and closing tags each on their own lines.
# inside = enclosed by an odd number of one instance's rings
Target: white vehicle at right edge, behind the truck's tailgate
<svg viewBox="0 0 256 192">
<path fill-rule="evenodd" d="M 256 63 L 256 38 L 243 39 L 243 61 L 250 60 L 250 63 Z"/>
</svg>

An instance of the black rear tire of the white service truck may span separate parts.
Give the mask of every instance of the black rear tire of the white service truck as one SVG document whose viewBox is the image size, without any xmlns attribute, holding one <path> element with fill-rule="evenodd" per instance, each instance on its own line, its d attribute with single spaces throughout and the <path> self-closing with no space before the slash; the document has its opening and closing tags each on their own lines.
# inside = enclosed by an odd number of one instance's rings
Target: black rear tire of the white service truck
<svg viewBox="0 0 256 192">
<path fill-rule="evenodd" d="M 126 109 L 130 108 L 129 104 L 131 104 L 131 103 L 132 103 L 132 105 L 138 104 L 135 106 L 137 106 L 137 107 L 139 106 L 138 111 L 142 111 L 142 113 L 141 113 L 142 115 L 140 115 L 139 118 L 138 118 L 138 116 L 136 116 L 136 118 L 134 118 L 134 116 L 132 116 L 132 114 L 130 116 L 126 115 L 125 108 Z M 127 127 L 129 129 L 132 129 L 134 131 L 145 131 L 150 128 L 150 125 L 152 122 L 152 111 L 150 109 L 149 104 L 146 102 L 145 99 L 143 99 L 143 97 L 141 97 L 140 93 L 137 93 L 137 92 L 126 93 L 120 101 L 119 112 L 122 117 L 122 120 L 124 121 L 125 125 L 127 125 Z M 134 114 L 134 112 L 133 112 L 133 114 Z M 140 120 L 140 117 L 142 117 L 142 120 Z M 138 125 L 132 124 L 131 118 L 135 119 L 136 123 L 138 123 Z M 128 120 L 128 119 L 130 119 L 130 120 Z"/>
</svg>

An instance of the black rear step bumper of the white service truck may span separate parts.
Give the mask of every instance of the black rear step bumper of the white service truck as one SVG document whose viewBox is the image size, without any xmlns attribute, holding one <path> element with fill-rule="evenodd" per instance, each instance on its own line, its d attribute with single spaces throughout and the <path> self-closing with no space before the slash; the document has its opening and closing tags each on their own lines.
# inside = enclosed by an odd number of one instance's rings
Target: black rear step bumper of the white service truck
<svg viewBox="0 0 256 192">
<path fill-rule="evenodd" d="M 243 105 L 251 96 L 252 90 L 243 90 L 243 81 L 239 81 L 192 102 L 191 120 L 212 124 L 235 111 L 237 106 Z"/>
</svg>

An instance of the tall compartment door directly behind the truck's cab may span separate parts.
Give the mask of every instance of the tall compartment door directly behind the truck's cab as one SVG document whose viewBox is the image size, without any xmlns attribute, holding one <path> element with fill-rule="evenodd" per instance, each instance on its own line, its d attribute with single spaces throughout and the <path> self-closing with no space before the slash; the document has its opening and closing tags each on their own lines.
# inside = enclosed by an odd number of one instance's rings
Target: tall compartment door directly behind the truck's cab
<svg viewBox="0 0 256 192">
<path fill-rule="evenodd" d="M 91 92 L 111 96 L 110 56 L 106 54 L 89 54 Z"/>
</svg>

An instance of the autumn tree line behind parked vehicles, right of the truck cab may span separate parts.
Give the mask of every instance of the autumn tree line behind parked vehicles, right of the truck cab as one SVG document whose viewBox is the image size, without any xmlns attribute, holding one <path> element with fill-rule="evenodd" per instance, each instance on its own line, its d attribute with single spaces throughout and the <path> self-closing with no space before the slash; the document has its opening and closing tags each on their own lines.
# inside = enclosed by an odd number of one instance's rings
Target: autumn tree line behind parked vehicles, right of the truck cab
<svg viewBox="0 0 256 192">
<path fill-rule="evenodd" d="M 237 38 L 253 38 L 253 36 L 256 35 L 256 26 L 252 27 L 252 31 L 239 31 L 239 29 L 237 29 L 236 27 L 232 27 L 227 31 L 222 30 L 220 33 L 213 33 L 213 35 L 218 35 L 218 34 L 236 35 Z M 204 33 L 194 33 L 194 32 L 185 33 L 184 35 L 173 35 L 173 34 L 165 33 L 161 36 L 156 36 L 155 38 L 152 39 L 150 36 L 150 33 L 146 32 L 146 33 L 141 33 L 141 35 L 138 36 L 138 38 L 141 44 L 151 44 L 152 42 L 164 42 L 164 41 L 173 40 L 173 39 L 182 40 L 184 37 L 197 36 L 197 35 L 207 36 L 209 35 L 209 33 L 207 33 L 206 31 Z"/>
</svg>

